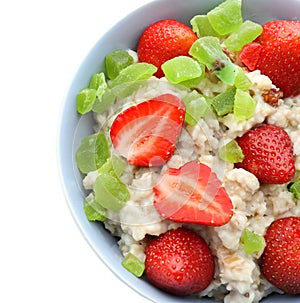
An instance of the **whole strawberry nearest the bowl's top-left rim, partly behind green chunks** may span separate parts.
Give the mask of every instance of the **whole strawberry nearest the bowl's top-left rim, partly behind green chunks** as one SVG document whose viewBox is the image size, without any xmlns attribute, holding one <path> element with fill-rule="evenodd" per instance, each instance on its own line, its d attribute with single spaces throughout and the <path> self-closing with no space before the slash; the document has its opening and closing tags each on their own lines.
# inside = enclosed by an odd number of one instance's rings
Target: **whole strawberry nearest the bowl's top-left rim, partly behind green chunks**
<svg viewBox="0 0 300 303">
<path fill-rule="evenodd" d="M 177 56 L 188 56 L 192 44 L 197 40 L 196 34 L 187 25 L 166 19 L 151 24 L 142 33 L 138 42 L 138 58 L 158 68 L 155 76 L 164 75 L 161 65 Z"/>
</svg>

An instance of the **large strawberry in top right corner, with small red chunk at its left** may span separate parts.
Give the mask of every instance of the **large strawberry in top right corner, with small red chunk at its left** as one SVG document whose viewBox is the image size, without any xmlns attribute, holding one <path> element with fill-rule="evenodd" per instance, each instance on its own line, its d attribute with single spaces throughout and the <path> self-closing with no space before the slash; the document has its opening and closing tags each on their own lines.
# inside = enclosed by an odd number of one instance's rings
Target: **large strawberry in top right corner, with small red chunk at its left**
<svg viewBox="0 0 300 303">
<path fill-rule="evenodd" d="M 245 45 L 241 61 L 259 69 L 279 87 L 284 97 L 300 93 L 300 21 L 275 20 L 263 25 L 255 42 Z"/>
</svg>

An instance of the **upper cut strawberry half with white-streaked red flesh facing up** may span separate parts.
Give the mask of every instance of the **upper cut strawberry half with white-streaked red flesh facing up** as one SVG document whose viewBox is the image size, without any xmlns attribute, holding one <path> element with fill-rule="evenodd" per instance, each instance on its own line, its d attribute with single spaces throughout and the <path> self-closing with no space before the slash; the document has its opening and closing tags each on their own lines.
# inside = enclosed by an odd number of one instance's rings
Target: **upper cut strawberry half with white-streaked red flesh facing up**
<svg viewBox="0 0 300 303">
<path fill-rule="evenodd" d="M 184 103 L 172 94 L 129 107 L 111 126 L 115 151 L 133 165 L 163 165 L 175 151 L 184 115 Z"/>
</svg>

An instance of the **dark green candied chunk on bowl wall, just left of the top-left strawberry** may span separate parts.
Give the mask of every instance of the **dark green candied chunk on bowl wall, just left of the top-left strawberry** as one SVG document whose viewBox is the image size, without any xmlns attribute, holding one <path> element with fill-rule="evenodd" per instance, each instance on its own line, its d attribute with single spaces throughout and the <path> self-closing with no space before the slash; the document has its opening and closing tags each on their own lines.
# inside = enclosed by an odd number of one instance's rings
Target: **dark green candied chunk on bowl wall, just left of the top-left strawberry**
<svg viewBox="0 0 300 303">
<path fill-rule="evenodd" d="M 125 50 L 115 50 L 105 57 L 105 68 L 109 79 L 115 79 L 122 69 L 133 64 L 133 58 Z"/>
</svg>

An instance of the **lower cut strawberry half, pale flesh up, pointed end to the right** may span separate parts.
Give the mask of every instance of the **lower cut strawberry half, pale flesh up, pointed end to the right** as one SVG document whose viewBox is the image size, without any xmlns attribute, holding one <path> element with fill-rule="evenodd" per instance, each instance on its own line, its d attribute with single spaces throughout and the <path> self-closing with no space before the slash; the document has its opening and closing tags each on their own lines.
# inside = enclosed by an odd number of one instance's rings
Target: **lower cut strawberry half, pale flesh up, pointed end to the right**
<svg viewBox="0 0 300 303">
<path fill-rule="evenodd" d="M 154 187 L 154 205 L 167 220 L 220 226 L 233 214 L 232 202 L 211 169 L 196 161 L 169 168 Z"/>
</svg>

